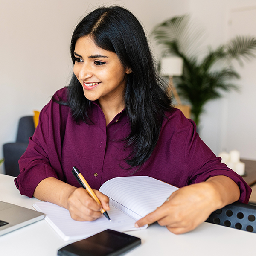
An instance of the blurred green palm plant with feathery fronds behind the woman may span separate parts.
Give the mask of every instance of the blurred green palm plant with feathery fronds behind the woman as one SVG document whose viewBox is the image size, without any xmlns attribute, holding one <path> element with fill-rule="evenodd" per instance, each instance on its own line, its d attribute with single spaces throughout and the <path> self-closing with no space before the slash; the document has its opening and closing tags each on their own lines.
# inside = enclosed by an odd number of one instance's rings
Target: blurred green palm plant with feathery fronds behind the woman
<svg viewBox="0 0 256 256">
<path fill-rule="evenodd" d="M 189 15 L 166 20 L 152 32 L 163 47 L 162 56 L 176 55 L 183 59 L 183 74 L 175 79 L 175 84 L 180 97 L 191 105 L 192 119 L 197 126 L 209 100 L 220 98 L 222 91 L 238 89 L 232 82 L 239 78 L 233 60 L 242 64 L 242 58 L 256 56 L 256 38 L 243 36 L 199 54 L 204 35 L 204 30 L 192 23 Z"/>
</svg>

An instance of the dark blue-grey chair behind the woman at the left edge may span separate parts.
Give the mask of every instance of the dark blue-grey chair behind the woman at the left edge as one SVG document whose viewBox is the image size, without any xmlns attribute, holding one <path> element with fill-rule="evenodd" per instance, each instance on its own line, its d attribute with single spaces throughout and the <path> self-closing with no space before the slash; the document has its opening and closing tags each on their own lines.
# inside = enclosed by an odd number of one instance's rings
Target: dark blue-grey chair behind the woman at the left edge
<svg viewBox="0 0 256 256">
<path fill-rule="evenodd" d="M 18 160 L 25 153 L 29 145 L 29 137 L 35 132 L 33 116 L 24 116 L 20 118 L 17 139 L 15 143 L 6 143 L 3 145 L 4 166 L 7 175 L 19 175 L 20 169 Z"/>
</svg>

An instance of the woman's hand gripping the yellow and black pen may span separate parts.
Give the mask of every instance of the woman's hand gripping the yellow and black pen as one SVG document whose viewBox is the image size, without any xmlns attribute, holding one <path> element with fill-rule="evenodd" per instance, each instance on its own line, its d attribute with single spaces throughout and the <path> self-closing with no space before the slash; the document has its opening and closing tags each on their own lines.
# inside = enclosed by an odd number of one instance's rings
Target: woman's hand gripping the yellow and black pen
<svg viewBox="0 0 256 256">
<path fill-rule="evenodd" d="M 100 212 L 102 208 L 106 211 L 110 210 L 109 198 L 98 190 L 93 189 L 93 191 L 102 205 L 91 198 L 84 188 L 75 188 L 70 193 L 67 198 L 67 209 L 71 218 L 76 221 L 94 221 L 102 215 Z"/>
</svg>

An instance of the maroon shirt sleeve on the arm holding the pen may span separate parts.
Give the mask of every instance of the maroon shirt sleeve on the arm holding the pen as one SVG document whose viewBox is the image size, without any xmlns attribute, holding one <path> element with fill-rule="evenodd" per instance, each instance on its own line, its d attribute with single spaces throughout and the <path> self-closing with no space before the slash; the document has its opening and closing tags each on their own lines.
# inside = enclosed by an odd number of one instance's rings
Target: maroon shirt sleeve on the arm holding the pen
<svg viewBox="0 0 256 256">
<path fill-rule="evenodd" d="M 42 109 L 39 123 L 26 152 L 20 157 L 20 174 L 15 185 L 21 195 L 32 198 L 41 180 L 55 177 L 63 180 L 61 168 L 61 145 L 69 107 L 52 100 Z"/>
</svg>

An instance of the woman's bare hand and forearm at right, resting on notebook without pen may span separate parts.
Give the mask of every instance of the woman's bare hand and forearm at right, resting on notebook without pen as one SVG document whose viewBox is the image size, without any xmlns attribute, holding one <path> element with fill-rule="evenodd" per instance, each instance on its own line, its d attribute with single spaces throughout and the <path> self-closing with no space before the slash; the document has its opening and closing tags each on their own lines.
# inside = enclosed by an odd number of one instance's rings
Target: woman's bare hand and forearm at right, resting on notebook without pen
<svg viewBox="0 0 256 256">
<path fill-rule="evenodd" d="M 211 177 L 206 182 L 185 186 L 173 192 L 163 205 L 137 221 L 135 227 L 157 221 L 172 233 L 186 233 L 207 220 L 216 209 L 237 201 L 239 195 L 239 187 L 230 178 Z"/>
</svg>

